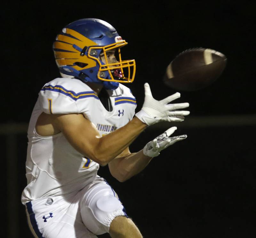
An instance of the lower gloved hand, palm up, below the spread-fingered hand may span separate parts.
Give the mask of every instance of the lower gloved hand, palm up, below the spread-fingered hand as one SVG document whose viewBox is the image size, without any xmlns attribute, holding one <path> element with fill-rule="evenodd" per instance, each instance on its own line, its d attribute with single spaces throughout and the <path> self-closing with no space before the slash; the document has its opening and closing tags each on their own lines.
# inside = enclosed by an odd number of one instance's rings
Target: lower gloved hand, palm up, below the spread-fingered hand
<svg viewBox="0 0 256 238">
<path fill-rule="evenodd" d="M 164 131 L 163 134 L 156 137 L 154 140 L 148 142 L 148 144 L 143 148 L 144 155 L 149 157 L 156 157 L 160 154 L 160 151 L 166 149 L 170 145 L 173 145 L 177 141 L 181 141 L 187 138 L 187 135 L 169 137 L 176 129 L 177 127 L 173 126 Z"/>
</svg>

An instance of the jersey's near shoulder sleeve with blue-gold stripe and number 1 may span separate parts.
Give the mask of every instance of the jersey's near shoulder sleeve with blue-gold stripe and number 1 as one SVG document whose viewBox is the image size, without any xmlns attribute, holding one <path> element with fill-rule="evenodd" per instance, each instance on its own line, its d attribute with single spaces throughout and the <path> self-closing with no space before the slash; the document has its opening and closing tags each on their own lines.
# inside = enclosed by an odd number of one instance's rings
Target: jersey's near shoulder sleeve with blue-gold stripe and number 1
<svg viewBox="0 0 256 238">
<path fill-rule="evenodd" d="M 44 113 L 83 113 L 93 106 L 98 96 L 82 81 L 75 78 L 55 78 L 39 92 L 39 103 Z"/>
</svg>

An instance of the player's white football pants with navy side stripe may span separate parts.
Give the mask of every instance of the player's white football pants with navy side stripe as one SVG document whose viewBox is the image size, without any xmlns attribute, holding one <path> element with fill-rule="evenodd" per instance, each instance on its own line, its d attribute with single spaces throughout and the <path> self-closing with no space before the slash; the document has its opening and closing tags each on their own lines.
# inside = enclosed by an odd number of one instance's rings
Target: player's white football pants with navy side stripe
<svg viewBox="0 0 256 238">
<path fill-rule="evenodd" d="M 117 216 L 126 216 L 116 192 L 97 176 L 84 189 L 26 204 L 28 225 L 35 237 L 95 238 L 109 233 Z"/>
</svg>

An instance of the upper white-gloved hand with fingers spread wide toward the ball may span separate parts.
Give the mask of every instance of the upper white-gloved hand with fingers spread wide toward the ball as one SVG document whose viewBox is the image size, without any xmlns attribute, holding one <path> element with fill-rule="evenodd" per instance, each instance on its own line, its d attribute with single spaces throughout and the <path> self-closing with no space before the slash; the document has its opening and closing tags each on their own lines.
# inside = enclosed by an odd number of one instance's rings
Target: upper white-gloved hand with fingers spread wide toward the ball
<svg viewBox="0 0 256 238">
<path fill-rule="evenodd" d="M 171 96 L 158 101 L 153 98 L 148 83 L 144 84 L 144 88 L 145 100 L 141 110 L 135 115 L 148 126 L 161 121 L 182 122 L 184 121 L 184 116 L 189 114 L 189 111 L 179 110 L 187 108 L 189 106 L 187 102 L 170 104 L 173 100 L 180 98 L 180 93 L 174 93 Z"/>
</svg>

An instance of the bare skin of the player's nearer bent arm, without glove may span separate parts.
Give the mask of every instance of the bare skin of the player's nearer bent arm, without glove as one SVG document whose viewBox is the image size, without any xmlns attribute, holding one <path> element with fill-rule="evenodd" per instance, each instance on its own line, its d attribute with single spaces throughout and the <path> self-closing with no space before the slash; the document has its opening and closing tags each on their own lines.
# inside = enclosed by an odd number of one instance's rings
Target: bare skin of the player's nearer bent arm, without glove
<svg viewBox="0 0 256 238">
<path fill-rule="evenodd" d="M 51 115 L 54 117 L 54 128 L 61 131 L 68 142 L 85 157 L 107 165 L 127 148 L 147 125 L 134 117 L 125 126 L 109 133 L 104 137 L 93 123 L 82 114 Z"/>
</svg>

